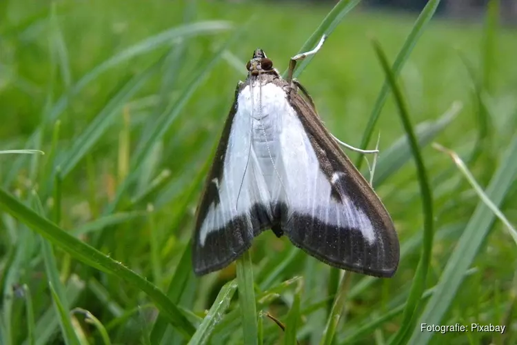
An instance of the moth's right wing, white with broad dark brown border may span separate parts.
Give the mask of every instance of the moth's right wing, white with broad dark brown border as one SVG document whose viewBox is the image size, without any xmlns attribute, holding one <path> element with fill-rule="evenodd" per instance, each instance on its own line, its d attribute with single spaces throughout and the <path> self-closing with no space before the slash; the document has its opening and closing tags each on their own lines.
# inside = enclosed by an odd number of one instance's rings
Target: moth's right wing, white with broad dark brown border
<svg viewBox="0 0 517 345">
<path fill-rule="evenodd" d="M 291 242 L 332 266 L 391 277 L 399 244 L 389 213 L 298 94 L 283 117 L 285 209 L 281 227 Z M 287 176 L 288 173 L 288 176 Z"/>
</svg>

